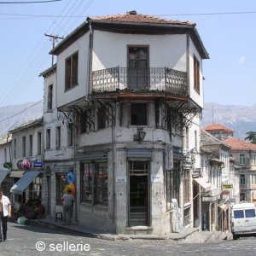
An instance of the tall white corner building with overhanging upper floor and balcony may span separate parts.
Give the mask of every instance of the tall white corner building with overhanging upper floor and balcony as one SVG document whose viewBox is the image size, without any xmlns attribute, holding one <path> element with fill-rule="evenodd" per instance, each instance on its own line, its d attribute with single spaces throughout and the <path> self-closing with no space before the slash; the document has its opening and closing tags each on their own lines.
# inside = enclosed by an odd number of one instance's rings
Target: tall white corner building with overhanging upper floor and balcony
<svg viewBox="0 0 256 256">
<path fill-rule="evenodd" d="M 195 23 L 136 11 L 89 17 L 50 54 L 55 107 L 74 124 L 67 165 L 74 163 L 79 224 L 126 234 L 194 225 L 208 58 Z"/>
</svg>

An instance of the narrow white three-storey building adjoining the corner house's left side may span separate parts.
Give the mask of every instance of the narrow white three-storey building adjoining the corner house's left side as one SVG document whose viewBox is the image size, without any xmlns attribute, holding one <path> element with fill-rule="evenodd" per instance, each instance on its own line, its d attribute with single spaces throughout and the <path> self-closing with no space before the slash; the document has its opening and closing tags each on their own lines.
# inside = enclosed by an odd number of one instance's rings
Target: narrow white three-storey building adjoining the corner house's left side
<svg viewBox="0 0 256 256">
<path fill-rule="evenodd" d="M 43 204 L 52 218 L 62 212 L 61 197 L 74 170 L 74 126 L 56 108 L 56 64 L 40 74 L 44 78 L 44 186 Z M 75 207 L 74 207 L 75 208 Z M 75 221 L 76 214 L 73 214 Z"/>
</svg>

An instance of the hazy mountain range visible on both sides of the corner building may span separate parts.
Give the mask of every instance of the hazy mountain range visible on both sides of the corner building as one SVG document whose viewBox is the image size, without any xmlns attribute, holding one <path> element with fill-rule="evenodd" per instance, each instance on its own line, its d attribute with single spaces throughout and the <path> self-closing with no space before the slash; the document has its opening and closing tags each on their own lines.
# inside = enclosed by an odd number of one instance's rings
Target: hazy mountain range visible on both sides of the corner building
<svg viewBox="0 0 256 256">
<path fill-rule="evenodd" d="M 18 114 L 17 114 L 18 113 Z M 42 102 L 26 102 L 0 108 L 0 136 L 15 127 L 43 116 Z M 212 116 L 213 113 L 213 116 Z M 244 139 L 247 131 L 256 131 L 256 104 L 253 106 L 205 103 L 201 126 L 220 123 L 235 131 L 235 137 Z"/>
</svg>

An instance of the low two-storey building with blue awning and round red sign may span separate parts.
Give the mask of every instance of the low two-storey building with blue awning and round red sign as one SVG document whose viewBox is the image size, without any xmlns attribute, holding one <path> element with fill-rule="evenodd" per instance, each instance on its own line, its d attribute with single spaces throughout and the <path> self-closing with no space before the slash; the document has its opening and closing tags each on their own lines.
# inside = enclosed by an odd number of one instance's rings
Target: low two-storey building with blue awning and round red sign
<svg viewBox="0 0 256 256">
<path fill-rule="evenodd" d="M 9 133 L 12 136 L 10 160 L 11 178 L 9 185 L 11 202 L 17 209 L 30 199 L 41 200 L 42 175 L 44 172 L 43 119 L 35 119 L 15 127 Z M 25 160 L 23 162 L 23 160 Z M 7 179 L 4 180 L 4 183 Z"/>
</svg>

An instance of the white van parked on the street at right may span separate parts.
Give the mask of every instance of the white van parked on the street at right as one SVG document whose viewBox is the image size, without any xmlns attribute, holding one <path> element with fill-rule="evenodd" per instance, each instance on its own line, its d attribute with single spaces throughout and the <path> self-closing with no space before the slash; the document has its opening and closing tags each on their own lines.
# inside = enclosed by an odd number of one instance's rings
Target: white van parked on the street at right
<svg viewBox="0 0 256 256">
<path fill-rule="evenodd" d="M 232 207 L 231 231 L 234 240 L 240 236 L 256 236 L 256 207 L 253 203 L 241 201 Z"/>
</svg>

